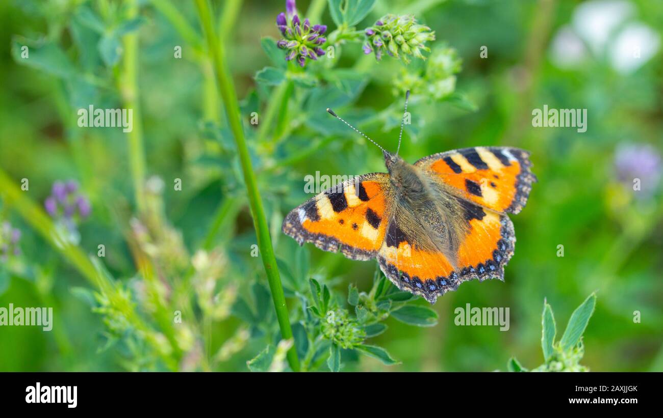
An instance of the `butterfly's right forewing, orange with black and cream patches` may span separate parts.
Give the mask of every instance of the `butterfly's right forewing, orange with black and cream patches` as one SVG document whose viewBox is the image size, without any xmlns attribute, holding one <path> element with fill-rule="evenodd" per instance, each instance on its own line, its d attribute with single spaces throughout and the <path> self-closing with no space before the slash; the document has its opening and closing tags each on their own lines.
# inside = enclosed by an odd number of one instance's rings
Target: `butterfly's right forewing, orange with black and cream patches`
<svg viewBox="0 0 663 418">
<path fill-rule="evenodd" d="M 457 149 L 424 157 L 414 165 L 456 188 L 467 200 L 497 212 L 520 212 L 536 181 L 527 151 L 513 147 Z"/>
</svg>

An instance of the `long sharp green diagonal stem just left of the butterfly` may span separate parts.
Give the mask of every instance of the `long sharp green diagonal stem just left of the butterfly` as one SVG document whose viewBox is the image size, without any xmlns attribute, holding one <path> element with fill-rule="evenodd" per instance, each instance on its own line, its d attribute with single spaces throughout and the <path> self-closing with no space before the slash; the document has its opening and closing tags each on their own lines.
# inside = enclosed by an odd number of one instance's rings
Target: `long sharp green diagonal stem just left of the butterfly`
<svg viewBox="0 0 663 418">
<path fill-rule="evenodd" d="M 239 161 L 241 162 L 244 182 L 247 187 L 249 204 L 251 206 L 251 213 L 253 214 L 253 224 L 258 239 L 258 247 L 263 259 L 263 265 L 265 266 L 265 272 L 267 273 L 269 287 L 272 292 L 272 299 L 274 301 L 274 308 L 276 309 L 276 317 L 278 319 L 281 337 L 283 339 L 292 339 L 292 328 L 290 327 L 290 318 L 288 317 L 288 307 L 286 306 L 283 286 L 276 267 L 276 257 L 274 256 L 274 249 L 272 248 L 271 237 L 269 236 L 269 226 L 267 225 L 267 219 L 265 218 L 263 202 L 258 190 L 255 173 L 253 173 L 253 167 L 251 167 L 249 149 L 244 138 L 235 87 L 233 86 L 233 81 L 225 66 L 225 62 L 223 61 L 223 46 L 220 44 L 219 39 L 215 34 L 210 3 L 208 0 L 196 0 L 196 7 L 208 42 L 208 52 L 210 53 L 214 64 L 217 88 L 223 99 L 228 124 L 230 125 L 237 144 Z M 300 364 L 294 345 L 288 350 L 287 356 L 290 368 L 294 371 L 299 371 Z"/>
</svg>

